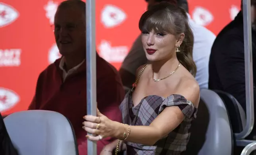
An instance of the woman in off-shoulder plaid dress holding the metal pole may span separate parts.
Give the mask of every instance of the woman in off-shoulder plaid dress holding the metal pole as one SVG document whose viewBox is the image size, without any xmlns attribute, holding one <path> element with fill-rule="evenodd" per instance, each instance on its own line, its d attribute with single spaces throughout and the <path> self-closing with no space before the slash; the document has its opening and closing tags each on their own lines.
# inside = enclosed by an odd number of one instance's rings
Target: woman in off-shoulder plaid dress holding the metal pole
<svg viewBox="0 0 256 155">
<path fill-rule="evenodd" d="M 86 115 L 87 138 L 117 138 L 102 150 L 111 155 L 125 144 L 127 155 L 180 155 L 186 150 L 200 89 L 194 79 L 193 34 L 184 9 L 161 2 L 139 22 L 142 43 L 151 62 L 138 68 L 137 79 L 122 104 L 122 123 L 97 112 Z"/>
</svg>

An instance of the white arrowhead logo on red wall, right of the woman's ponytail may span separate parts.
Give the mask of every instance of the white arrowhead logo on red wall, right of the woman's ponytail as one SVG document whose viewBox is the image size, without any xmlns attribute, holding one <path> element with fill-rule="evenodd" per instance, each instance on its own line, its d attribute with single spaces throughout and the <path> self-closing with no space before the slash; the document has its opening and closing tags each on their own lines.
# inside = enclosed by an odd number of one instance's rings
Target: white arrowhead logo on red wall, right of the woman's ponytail
<svg viewBox="0 0 256 155">
<path fill-rule="evenodd" d="M 207 26 L 213 21 L 213 15 L 207 9 L 197 6 L 193 11 L 193 20 L 201 26 Z"/>
</svg>

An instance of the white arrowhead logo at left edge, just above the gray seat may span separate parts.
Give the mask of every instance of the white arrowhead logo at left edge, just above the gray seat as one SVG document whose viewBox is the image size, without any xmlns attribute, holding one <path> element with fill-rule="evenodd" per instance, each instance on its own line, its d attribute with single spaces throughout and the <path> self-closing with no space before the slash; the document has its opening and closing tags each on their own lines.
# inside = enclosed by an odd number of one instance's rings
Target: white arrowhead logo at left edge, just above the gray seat
<svg viewBox="0 0 256 155">
<path fill-rule="evenodd" d="M 19 95 L 14 91 L 0 87 L 0 112 L 14 107 L 19 102 Z"/>
</svg>

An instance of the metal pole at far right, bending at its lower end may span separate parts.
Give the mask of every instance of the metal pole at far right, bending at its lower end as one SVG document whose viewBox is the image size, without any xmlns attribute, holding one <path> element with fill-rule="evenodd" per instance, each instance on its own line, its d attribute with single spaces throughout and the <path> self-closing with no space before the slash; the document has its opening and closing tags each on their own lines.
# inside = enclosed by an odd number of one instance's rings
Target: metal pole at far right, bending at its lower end
<svg viewBox="0 0 256 155">
<path fill-rule="evenodd" d="M 243 0 L 244 26 L 244 68 L 246 92 L 246 126 L 242 132 L 236 134 L 236 139 L 244 139 L 250 134 L 254 125 L 253 71 L 252 71 L 252 23 L 251 1 Z"/>
</svg>

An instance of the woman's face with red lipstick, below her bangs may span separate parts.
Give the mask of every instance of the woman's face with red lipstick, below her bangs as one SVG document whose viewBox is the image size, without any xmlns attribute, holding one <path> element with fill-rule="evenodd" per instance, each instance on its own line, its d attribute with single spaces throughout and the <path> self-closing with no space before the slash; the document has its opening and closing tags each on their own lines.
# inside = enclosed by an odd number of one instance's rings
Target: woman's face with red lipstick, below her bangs
<svg viewBox="0 0 256 155">
<path fill-rule="evenodd" d="M 176 47 L 183 41 L 184 33 L 178 37 L 173 34 L 151 32 L 142 33 L 142 45 L 146 53 L 147 60 L 158 61 L 171 59 L 175 55 Z"/>
</svg>

